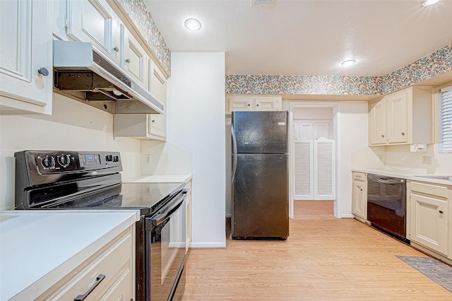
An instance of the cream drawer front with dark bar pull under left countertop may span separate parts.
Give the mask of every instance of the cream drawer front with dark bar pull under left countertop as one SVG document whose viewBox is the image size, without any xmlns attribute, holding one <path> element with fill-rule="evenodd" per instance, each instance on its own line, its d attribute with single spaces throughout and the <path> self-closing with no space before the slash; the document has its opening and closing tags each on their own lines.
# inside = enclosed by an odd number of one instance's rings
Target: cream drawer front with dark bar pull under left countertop
<svg viewBox="0 0 452 301">
<path fill-rule="evenodd" d="M 132 244 L 133 237 L 130 228 L 62 278 L 59 283 L 36 300 L 74 300 L 78 295 L 88 292 L 97 282 L 97 286 L 85 298 L 86 301 L 95 300 L 96 295 L 111 290 L 110 287 L 118 283 L 119 275 L 122 276 L 126 273 L 130 276 L 130 268 L 124 268 L 124 266 L 130 267 L 131 262 L 133 262 Z M 105 278 L 102 281 L 97 281 L 97 278 L 102 278 L 102 275 L 105 275 Z"/>
</svg>

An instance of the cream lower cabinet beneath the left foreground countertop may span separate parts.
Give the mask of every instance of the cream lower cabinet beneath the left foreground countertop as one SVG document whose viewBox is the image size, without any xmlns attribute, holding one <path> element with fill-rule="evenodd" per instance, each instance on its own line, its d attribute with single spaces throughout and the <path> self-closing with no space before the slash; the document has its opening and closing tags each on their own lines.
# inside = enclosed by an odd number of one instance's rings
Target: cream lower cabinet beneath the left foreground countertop
<svg viewBox="0 0 452 301">
<path fill-rule="evenodd" d="M 135 225 L 35 300 L 134 300 Z"/>
</svg>

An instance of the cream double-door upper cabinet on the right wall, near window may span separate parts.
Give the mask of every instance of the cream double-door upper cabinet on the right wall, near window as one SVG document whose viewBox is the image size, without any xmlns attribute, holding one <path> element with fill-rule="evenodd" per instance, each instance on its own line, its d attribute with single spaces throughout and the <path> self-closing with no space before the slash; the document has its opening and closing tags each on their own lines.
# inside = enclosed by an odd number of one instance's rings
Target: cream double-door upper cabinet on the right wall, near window
<svg viewBox="0 0 452 301">
<path fill-rule="evenodd" d="M 369 102 L 369 145 L 433 142 L 433 90 L 411 87 Z"/>
</svg>

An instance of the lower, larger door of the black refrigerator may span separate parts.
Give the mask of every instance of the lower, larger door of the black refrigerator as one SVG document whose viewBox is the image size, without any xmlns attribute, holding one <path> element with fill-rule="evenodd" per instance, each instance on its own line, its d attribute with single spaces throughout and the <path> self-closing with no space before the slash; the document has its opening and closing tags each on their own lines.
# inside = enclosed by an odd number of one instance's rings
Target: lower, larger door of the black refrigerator
<svg viewBox="0 0 452 301">
<path fill-rule="evenodd" d="M 288 155 L 239 154 L 232 182 L 232 238 L 289 236 Z"/>
</svg>

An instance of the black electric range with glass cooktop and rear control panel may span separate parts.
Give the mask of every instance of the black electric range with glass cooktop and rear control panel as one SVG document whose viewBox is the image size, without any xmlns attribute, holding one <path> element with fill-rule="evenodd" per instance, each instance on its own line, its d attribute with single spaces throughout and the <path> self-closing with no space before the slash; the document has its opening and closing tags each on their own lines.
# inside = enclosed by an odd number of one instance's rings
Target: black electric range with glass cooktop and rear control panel
<svg viewBox="0 0 452 301">
<path fill-rule="evenodd" d="M 16 210 L 139 210 L 136 300 L 182 297 L 186 253 L 184 183 L 123 183 L 117 152 L 21 151 L 14 157 Z"/>
</svg>

